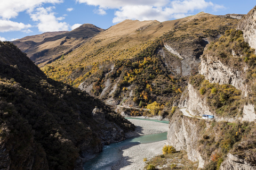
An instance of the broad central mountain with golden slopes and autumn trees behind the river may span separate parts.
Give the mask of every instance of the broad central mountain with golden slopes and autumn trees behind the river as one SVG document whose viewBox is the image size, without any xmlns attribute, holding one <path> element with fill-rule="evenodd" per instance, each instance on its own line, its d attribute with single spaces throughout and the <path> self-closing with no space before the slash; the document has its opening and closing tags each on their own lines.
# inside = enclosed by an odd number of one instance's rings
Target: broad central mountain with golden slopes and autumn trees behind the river
<svg viewBox="0 0 256 170">
<path fill-rule="evenodd" d="M 42 70 L 108 104 L 171 107 L 198 72 L 205 46 L 238 21 L 204 12 L 165 22 L 125 20 Z"/>
</svg>

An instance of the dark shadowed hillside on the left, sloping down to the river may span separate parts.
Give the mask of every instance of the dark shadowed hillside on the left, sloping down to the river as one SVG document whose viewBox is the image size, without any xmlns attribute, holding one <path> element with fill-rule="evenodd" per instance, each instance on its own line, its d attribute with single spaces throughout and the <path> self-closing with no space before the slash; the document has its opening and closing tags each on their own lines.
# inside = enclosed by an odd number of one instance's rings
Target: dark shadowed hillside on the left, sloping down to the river
<svg viewBox="0 0 256 170">
<path fill-rule="evenodd" d="M 102 101 L 46 75 L 0 42 L 0 168 L 83 169 L 134 125 Z"/>
</svg>

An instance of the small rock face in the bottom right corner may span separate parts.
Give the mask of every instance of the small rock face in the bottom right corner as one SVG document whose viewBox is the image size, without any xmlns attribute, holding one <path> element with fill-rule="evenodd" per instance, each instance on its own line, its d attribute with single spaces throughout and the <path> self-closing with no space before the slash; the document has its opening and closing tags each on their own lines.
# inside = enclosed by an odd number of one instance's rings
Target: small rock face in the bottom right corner
<svg viewBox="0 0 256 170">
<path fill-rule="evenodd" d="M 227 159 L 221 164 L 220 170 L 255 170 L 254 166 L 245 162 L 244 159 L 239 158 L 236 155 L 228 154 Z"/>
</svg>

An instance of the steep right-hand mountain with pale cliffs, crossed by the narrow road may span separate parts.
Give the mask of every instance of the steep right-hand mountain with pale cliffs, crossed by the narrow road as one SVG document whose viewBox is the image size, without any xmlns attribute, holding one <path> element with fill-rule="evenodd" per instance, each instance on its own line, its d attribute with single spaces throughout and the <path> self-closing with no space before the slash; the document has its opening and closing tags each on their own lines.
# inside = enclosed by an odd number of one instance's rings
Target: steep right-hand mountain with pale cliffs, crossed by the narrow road
<svg viewBox="0 0 256 170">
<path fill-rule="evenodd" d="M 198 168 L 256 168 L 255 15 L 256 6 L 205 47 L 179 101 L 192 116 L 177 109 L 171 118 L 168 144 L 186 150 Z M 215 118 L 198 119 L 204 114 Z"/>
</svg>

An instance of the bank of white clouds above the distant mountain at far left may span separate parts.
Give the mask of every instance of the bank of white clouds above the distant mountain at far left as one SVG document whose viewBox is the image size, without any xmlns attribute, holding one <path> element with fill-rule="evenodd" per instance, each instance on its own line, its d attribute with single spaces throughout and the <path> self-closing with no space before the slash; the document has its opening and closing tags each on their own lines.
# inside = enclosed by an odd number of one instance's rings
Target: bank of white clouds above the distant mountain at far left
<svg viewBox="0 0 256 170">
<path fill-rule="evenodd" d="M 36 21 L 36 26 L 39 31 L 60 31 L 68 30 L 69 25 L 66 22 L 59 22 L 65 18 L 56 18 L 52 12 L 54 7 L 43 8 L 43 4 L 58 4 L 63 3 L 63 0 L 9 0 L 0 2 L 0 32 L 7 31 L 22 31 L 31 32 L 33 27 L 30 24 L 24 24 L 11 21 L 18 16 L 20 12 L 26 11 L 33 21 Z"/>
</svg>

